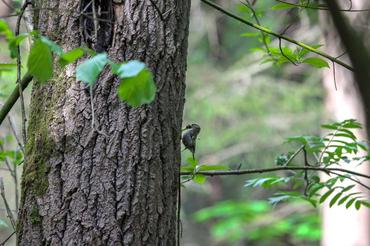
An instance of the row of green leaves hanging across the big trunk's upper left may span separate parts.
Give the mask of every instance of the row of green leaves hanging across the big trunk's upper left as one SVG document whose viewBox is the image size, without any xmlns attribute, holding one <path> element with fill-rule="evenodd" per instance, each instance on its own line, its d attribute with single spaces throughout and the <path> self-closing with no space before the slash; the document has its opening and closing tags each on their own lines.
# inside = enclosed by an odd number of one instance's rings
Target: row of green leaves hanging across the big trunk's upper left
<svg viewBox="0 0 370 246">
<path fill-rule="evenodd" d="M 0 33 L 7 36 L 11 58 L 20 59 L 17 51 L 19 43 L 26 37 L 31 36 L 34 38 L 34 44 L 28 56 L 27 67 L 28 72 L 40 79 L 41 83 L 53 78 L 53 53 L 59 56 L 58 64 L 61 67 L 75 62 L 86 53 L 91 58 L 76 67 L 77 79 L 92 87 L 99 74 L 108 64 L 111 66 L 112 72 L 122 79 L 118 87 L 118 97 L 121 100 L 126 100 L 128 105 L 134 107 L 154 100 L 157 88 L 151 72 L 145 67 L 143 62 L 131 60 L 115 63 L 107 58 L 106 52 L 95 53 L 86 46 L 64 52 L 59 45 L 38 34 L 37 31 L 19 34 L 14 37 L 6 22 L 2 20 L 0 20 Z M 11 66 L 17 66 L 17 64 L 0 63 L 0 67 Z"/>
</svg>

